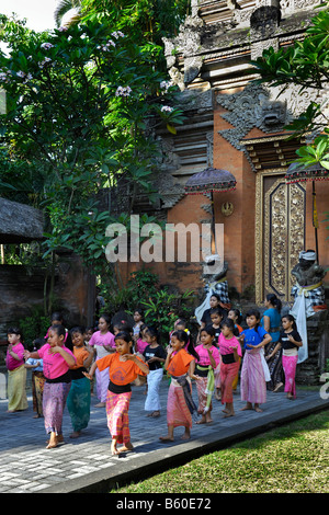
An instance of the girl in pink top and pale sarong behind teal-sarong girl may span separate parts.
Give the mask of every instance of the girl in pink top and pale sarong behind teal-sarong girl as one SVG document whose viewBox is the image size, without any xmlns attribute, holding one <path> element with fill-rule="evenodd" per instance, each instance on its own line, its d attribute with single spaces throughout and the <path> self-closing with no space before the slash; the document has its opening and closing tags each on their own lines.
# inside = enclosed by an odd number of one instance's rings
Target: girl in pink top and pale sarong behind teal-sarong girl
<svg viewBox="0 0 329 515">
<path fill-rule="evenodd" d="M 107 356 L 109 353 L 115 352 L 114 334 L 110 331 L 111 319 L 109 314 L 103 313 L 99 320 L 99 331 L 94 332 L 89 340 L 89 345 L 94 347 L 95 360 Z M 109 368 L 95 371 L 97 396 L 100 400 L 95 408 L 104 408 L 106 405 L 107 387 L 109 387 Z"/>
</svg>

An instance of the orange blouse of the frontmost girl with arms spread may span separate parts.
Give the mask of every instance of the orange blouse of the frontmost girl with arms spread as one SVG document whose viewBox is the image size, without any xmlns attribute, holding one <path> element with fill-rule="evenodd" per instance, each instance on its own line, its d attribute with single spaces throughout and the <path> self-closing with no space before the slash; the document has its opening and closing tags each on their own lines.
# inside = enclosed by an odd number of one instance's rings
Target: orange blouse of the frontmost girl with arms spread
<svg viewBox="0 0 329 515">
<path fill-rule="evenodd" d="M 138 356 L 136 357 L 140 363 L 145 364 Z M 107 356 L 98 359 L 95 363 L 101 371 L 109 367 L 110 379 L 114 385 L 128 385 L 129 382 L 133 382 L 137 376 L 146 376 L 135 362 L 132 362 L 131 359 L 121 362 L 120 354 L 117 352 L 109 354 Z"/>
</svg>

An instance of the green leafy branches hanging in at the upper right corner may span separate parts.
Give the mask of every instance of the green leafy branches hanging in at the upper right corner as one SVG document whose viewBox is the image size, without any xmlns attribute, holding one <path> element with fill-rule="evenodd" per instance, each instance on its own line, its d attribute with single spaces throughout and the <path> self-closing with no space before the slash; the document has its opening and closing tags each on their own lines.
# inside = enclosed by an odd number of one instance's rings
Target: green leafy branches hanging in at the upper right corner
<svg viewBox="0 0 329 515">
<path fill-rule="evenodd" d="M 316 140 L 297 151 L 299 162 L 304 167 L 320 163 L 329 169 L 329 131 L 328 131 L 328 81 L 329 81 L 329 9 L 328 1 L 320 7 L 313 18 L 310 26 L 305 31 L 305 38 L 287 48 L 277 52 L 273 47 L 263 52 L 253 65 L 260 73 L 259 83 L 272 87 L 288 84 L 300 85 L 299 93 L 306 88 L 322 91 L 322 102 L 311 102 L 307 110 L 287 127 L 292 130 L 291 138 L 302 138 L 307 133 L 322 130 Z M 254 68 L 251 70 L 254 73 Z M 326 128 L 327 126 L 327 128 Z"/>
</svg>

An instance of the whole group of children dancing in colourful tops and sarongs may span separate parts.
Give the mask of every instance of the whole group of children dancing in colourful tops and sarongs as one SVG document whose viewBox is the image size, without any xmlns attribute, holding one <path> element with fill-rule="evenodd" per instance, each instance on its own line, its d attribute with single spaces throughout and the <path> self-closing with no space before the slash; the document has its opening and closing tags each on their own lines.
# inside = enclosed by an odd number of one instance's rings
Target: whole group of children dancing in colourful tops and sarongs
<svg viewBox="0 0 329 515">
<path fill-rule="evenodd" d="M 240 393 L 243 410 L 262 411 L 266 400 L 266 363 L 263 347 L 271 335 L 260 325 L 258 310 L 246 313 L 247 329 L 238 324 L 239 311 L 211 307 L 201 321 L 195 344 L 183 320 L 178 320 L 169 334 L 164 350 L 157 329 L 147 327 L 143 313 L 134 313 L 134 327 L 127 322 L 111 327 L 107 314 L 101 314 L 99 330 L 76 327 L 68 331 L 60 317 L 52 317 L 45 339 L 35 341 L 33 352 L 24 350 L 18 328 L 8 331 L 7 366 L 9 370 L 8 411 L 27 408 L 25 393 L 26 368 L 33 370 L 35 416 L 44 416 L 49 434 L 47 448 L 63 442 L 65 405 L 71 417 L 72 438 L 79 437 L 90 420 L 90 398 L 95 379 L 99 403 L 106 408 L 107 426 L 112 435 L 113 455 L 133 449 L 128 424 L 132 384 L 146 378 L 145 410 L 147 416 L 158 417 L 161 411 L 159 389 L 163 371 L 170 386 L 167 401 L 167 435 L 161 442 L 174 439 L 178 426 L 189 438 L 192 419 L 197 424 L 212 422 L 213 394 L 220 400 L 224 416 L 235 415 L 234 391 L 237 388 L 240 364 Z M 294 398 L 296 350 L 303 345 L 294 319 L 282 318 L 283 331 L 275 347 L 284 350 L 285 391 Z M 112 329 L 112 331 L 111 331 Z M 274 352 L 273 351 L 273 352 Z M 19 370 L 19 374 L 18 374 Z M 192 398 L 195 381 L 197 405 Z M 144 382 L 143 380 L 140 381 Z M 139 384 L 140 384 L 139 382 Z M 122 444 L 122 447 L 118 447 Z"/>
</svg>

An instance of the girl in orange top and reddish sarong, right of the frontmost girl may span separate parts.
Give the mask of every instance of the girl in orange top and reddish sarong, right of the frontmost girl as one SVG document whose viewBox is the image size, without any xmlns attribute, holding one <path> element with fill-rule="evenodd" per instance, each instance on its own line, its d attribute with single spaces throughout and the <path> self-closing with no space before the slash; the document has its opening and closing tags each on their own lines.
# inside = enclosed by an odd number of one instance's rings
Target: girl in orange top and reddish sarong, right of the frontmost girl
<svg viewBox="0 0 329 515">
<path fill-rule="evenodd" d="M 184 348 L 189 339 L 185 331 L 174 331 L 167 347 L 164 368 L 170 374 L 171 381 L 167 402 L 168 434 L 160 436 L 161 442 L 173 442 L 173 430 L 181 425 L 185 427 L 182 439 L 189 439 L 191 436 L 192 413 L 197 411 L 192 399 L 191 379 L 198 379 L 194 375 L 195 359 L 198 356 L 191 340 L 188 351 Z"/>
</svg>

